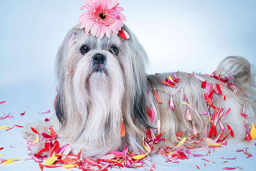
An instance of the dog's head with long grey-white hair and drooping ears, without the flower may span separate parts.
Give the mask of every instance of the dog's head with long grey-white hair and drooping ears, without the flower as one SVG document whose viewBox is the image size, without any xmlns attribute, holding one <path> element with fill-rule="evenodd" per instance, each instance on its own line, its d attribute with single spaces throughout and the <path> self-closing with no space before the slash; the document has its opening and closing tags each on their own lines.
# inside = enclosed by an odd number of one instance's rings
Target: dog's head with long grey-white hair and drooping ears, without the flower
<svg viewBox="0 0 256 171">
<path fill-rule="evenodd" d="M 62 127 L 80 136 L 85 129 L 108 136 L 113 130 L 120 135 L 122 119 L 127 127 L 147 125 L 148 58 L 136 36 L 126 26 L 123 29 L 130 39 L 116 34 L 96 38 L 77 27 L 66 35 L 55 62 L 55 109 Z"/>
</svg>

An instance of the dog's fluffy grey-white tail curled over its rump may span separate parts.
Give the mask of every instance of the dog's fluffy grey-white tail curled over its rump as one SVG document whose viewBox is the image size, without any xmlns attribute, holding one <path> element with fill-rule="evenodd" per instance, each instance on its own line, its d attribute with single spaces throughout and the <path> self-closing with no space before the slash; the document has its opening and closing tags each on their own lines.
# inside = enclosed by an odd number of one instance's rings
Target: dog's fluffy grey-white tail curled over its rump
<svg viewBox="0 0 256 171">
<path fill-rule="evenodd" d="M 236 84 L 250 98 L 256 99 L 256 74 L 252 71 L 249 61 L 244 57 L 226 57 L 220 62 L 215 73 L 221 75 L 223 79 L 229 77 L 229 82 Z"/>
</svg>

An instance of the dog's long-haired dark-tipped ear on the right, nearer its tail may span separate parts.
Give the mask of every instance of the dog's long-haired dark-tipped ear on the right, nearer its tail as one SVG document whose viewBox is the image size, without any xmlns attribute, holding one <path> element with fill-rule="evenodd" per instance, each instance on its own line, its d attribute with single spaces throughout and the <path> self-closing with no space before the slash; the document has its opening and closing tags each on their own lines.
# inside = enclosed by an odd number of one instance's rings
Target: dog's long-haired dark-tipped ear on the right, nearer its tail
<svg viewBox="0 0 256 171">
<path fill-rule="evenodd" d="M 149 65 L 147 53 L 135 34 L 125 25 L 122 27 L 129 35 L 130 39 L 122 40 L 127 48 L 127 54 L 130 55 L 130 62 L 132 63 L 132 72 L 134 77 L 134 95 L 133 95 L 133 118 L 148 127 L 147 114 L 146 114 L 146 69 Z"/>
</svg>

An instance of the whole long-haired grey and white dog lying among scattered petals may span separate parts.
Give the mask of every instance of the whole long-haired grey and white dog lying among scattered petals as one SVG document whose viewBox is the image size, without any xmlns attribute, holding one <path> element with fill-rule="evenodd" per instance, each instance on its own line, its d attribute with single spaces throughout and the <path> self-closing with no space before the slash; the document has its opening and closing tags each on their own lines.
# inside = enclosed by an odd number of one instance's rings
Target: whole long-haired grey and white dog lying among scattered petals
<svg viewBox="0 0 256 171">
<path fill-rule="evenodd" d="M 123 40 L 115 34 L 111 38 L 104 36 L 100 39 L 77 27 L 69 31 L 56 58 L 59 81 L 56 116 L 50 122 L 29 123 L 23 131 L 27 140 L 36 139 L 31 127 L 42 133 L 44 125 L 51 124 L 57 135 L 61 135 L 58 138 L 60 146 L 68 143 L 73 153 L 78 154 L 82 149 L 83 157 L 97 158 L 120 151 L 125 145 L 130 151 L 145 151 L 142 139 L 146 127 L 151 126 L 157 134 L 158 120 L 161 121 L 161 131 L 167 131 L 162 135 L 165 141 L 155 144 L 155 149 L 177 144 L 176 133 L 184 129 L 182 137 L 193 135 L 193 124 L 201 133 L 198 139 L 204 137 L 207 122 L 211 126 L 209 116 L 214 110 L 206 104 L 204 94 L 207 93 L 201 87 L 202 81 L 195 75 L 182 72 L 177 72 L 177 76 L 173 73 L 146 75 L 147 54 L 136 36 L 126 26 L 123 29 L 130 34 L 130 39 Z M 256 122 L 255 83 L 250 64 L 241 57 L 228 57 L 220 63 L 215 73 L 219 79 L 221 76 L 234 77 L 229 82 L 236 84 L 238 95 L 222 81 L 223 95 L 214 93 L 214 100 L 211 100 L 214 106 L 223 108 L 225 112 L 231 109 L 220 120 L 228 122 L 235 139 L 244 139 L 246 130 L 243 122 L 248 120 L 248 125 Z M 161 82 L 170 75 L 179 78 L 175 84 L 177 88 Z M 200 77 L 215 88 L 221 84 L 216 78 Z M 156 99 L 156 93 L 161 104 Z M 170 109 L 171 97 L 174 109 Z M 250 119 L 244 118 L 242 121 L 239 112 L 242 112 L 245 102 L 245 113 Z M 147 108 L 155 113 L 153 121 L 147 115 Z M 186 117 L 187 110 L 191 120 Z M 208 111 L 208 117 L 200 114 L 205 111 Z M 124 137 L 120 135 L 122 120 Z M 219 122 L 216 128 L 220 130 L 218 125 Z M 37 144 L 31 147 L 33 153 L 44 146 L 44 141 Z"/>
</svg>

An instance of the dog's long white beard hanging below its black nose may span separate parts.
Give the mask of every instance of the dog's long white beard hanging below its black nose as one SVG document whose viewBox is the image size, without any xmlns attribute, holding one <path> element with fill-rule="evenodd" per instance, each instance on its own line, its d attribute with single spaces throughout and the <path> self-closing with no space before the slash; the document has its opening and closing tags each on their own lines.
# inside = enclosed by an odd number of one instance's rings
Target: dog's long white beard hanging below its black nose
<svg viewBox="0 0 256 171">
<path fill-rule="evenodd" d="M 116 57 L 107 54 L 106 58 L 101 65 L 91 62 L 90 66 L 86 65 L 86 58 L 81 59 L 73 79 L 73 100 L 81 117 L 77 139 L 88 142 L 86 145 L 91 146 L 92 151 L 99 147 L 106 150 L 121 143 L 116 135 L 120 134 L 124 76 Z M 115 142 L 106 141 L 109 138 L 114 138 Z"/>
</svg>

